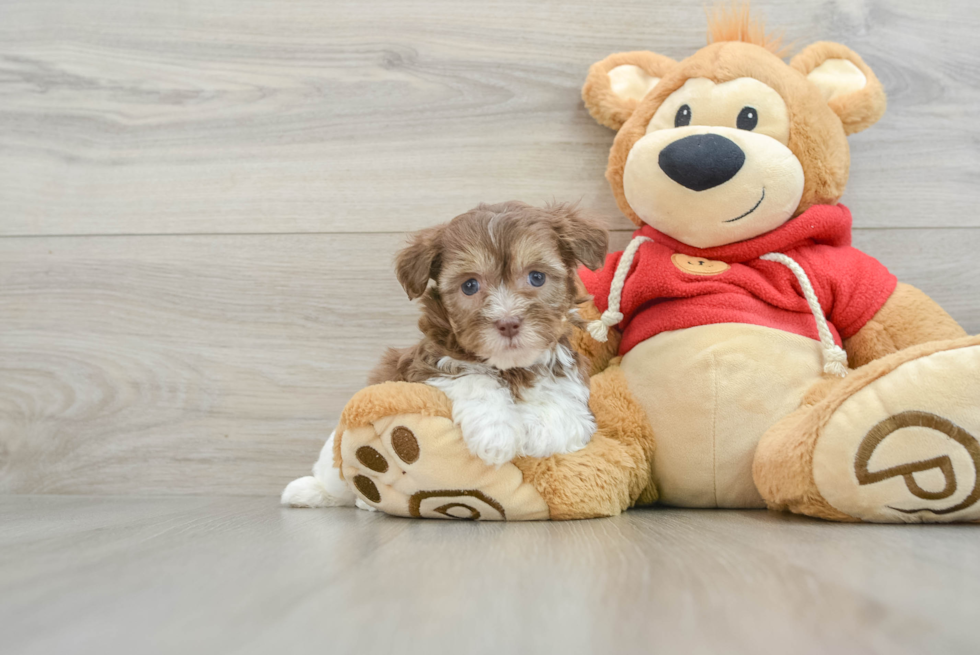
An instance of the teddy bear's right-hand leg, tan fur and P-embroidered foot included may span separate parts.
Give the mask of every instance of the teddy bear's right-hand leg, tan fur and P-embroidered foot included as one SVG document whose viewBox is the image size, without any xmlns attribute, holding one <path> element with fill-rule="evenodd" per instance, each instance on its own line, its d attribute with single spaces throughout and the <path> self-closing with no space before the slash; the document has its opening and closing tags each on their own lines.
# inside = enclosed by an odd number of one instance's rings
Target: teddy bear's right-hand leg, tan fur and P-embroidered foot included
<svg viewBox="0 0 980 655">
<path fill-rule="evenodd" d="M 772 509 L 839 521 L 980 520 L 980 337 L 823 380 L 759 442 Z"/>
</svg>

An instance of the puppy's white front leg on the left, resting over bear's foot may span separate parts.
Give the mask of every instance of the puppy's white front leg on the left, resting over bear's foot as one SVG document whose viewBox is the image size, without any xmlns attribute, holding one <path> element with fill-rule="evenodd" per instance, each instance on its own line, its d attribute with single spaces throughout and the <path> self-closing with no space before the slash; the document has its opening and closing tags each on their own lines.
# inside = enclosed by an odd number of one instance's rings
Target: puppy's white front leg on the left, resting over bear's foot
<svg viewBox="0 0 980 655">
<path fill-rule="evenodd" d="M 501 465 L 520 452 L 524 425 L 510 391 L 489 375 L 433 378 L 453 403 L 453 422 L 470 452 L 487 464 Z"/>
</svg>

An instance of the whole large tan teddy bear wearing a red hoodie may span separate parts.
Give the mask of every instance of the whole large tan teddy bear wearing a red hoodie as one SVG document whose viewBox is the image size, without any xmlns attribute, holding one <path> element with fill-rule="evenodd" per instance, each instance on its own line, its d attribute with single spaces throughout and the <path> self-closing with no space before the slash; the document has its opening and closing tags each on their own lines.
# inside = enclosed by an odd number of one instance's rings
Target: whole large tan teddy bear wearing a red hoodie
<svg viewBox="0 0 980 655">
<path fill-rule="evenodd" d="M 368 387 L 334 442 L 360 499 L 491 520 L 654 502 L 980 519 L 980 337 L 853 248 L 838 202 L 882 85 L 840 44 L 781 54 L 733 11 L 683 61 L 624 52 L 589 71 L 585 106 L 617 130 L 606 177 L 639 228 L 580 273 L 589 445 L 488 466 L 440 391 Z"/>
</svg>

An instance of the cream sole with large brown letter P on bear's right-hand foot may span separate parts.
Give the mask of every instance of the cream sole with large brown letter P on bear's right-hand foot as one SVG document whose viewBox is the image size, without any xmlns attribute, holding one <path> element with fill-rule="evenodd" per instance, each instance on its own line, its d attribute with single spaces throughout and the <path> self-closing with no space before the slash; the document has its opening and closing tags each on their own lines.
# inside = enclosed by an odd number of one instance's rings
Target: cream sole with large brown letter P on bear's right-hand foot
<svg viewBox="0 0 980 655">
<path fill-rule="evenodd" d="M 813 480 L 873 522 L 980 520 L 980 340 L 905 361 L 853 391 L 820 429 Z"/>
</svg>

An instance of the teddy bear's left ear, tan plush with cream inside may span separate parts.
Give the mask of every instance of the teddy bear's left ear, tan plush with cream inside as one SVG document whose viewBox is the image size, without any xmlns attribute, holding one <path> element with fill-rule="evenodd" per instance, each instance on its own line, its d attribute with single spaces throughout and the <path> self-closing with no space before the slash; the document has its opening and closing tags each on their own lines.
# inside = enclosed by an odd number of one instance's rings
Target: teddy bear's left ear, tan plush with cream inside
<svg viewBox="0 0 980 655">
<path fill-rule="evenodd" d="M 655 52 L 619 52 L 592 64 L 582 100 L 599 123 L 618 130 L 677 62 Z"/>
</svg>

